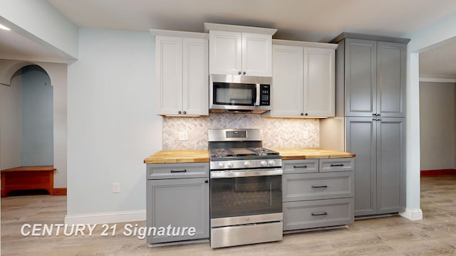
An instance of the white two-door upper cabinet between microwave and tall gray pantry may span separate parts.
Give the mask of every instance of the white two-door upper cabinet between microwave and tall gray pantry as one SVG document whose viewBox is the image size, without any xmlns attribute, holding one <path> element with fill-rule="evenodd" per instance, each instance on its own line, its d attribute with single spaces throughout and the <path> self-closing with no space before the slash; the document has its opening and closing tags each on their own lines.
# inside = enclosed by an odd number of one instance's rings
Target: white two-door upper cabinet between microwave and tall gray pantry
<svg viewBox="0 0 456 256">
<path fill-rule="evenodd" d="M 329 43 L 274 40 L 271 117 L 333 117 L 335 49 Z"/>
</svg>

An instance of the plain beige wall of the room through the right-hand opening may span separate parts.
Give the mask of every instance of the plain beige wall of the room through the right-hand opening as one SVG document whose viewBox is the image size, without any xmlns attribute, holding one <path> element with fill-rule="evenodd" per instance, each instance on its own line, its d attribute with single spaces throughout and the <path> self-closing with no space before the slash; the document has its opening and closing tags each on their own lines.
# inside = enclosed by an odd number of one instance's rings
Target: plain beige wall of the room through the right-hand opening
<svg viewBox="0 0 456 256">
<path fill-rule="evenodd" d="M 421 170 L 454 169 L 455 84 L 420 82 Z"/>
</svg>

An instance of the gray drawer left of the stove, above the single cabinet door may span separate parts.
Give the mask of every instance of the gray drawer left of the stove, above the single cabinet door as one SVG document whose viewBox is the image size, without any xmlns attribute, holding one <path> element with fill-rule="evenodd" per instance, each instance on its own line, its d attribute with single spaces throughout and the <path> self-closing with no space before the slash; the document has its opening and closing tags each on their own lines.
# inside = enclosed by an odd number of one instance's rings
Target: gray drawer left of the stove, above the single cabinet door
<svg viewBox="0 0 456 256">
<path fill-rule="evenodd" d="M 209 163 L 147 164 L 147 179 L 209 178 Z"/>
</svg>

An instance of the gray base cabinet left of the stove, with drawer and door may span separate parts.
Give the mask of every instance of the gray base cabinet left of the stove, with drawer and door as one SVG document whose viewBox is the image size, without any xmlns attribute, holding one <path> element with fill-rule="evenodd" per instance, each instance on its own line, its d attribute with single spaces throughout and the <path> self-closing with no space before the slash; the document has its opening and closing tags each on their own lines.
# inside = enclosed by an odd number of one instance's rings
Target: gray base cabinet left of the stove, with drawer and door
<svg viewBox="0 0 456 256">
<path fill-rule="evenodd" d="M 209 164 L 147 164 L 146 177 L 148 244 L 209 239 Z"/>
</svg>

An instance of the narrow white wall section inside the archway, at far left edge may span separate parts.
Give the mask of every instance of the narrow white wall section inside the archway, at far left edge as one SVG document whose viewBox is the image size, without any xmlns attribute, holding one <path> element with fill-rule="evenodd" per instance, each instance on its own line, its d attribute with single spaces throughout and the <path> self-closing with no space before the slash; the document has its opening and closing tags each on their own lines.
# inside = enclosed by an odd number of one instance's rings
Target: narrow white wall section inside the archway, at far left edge
<svg viewBox="0 0 456 256">
<path fill-rule="evenodd" d="M 0 169 L 21 164 L 21 73 L 0 85 Z"/>
</svg>

